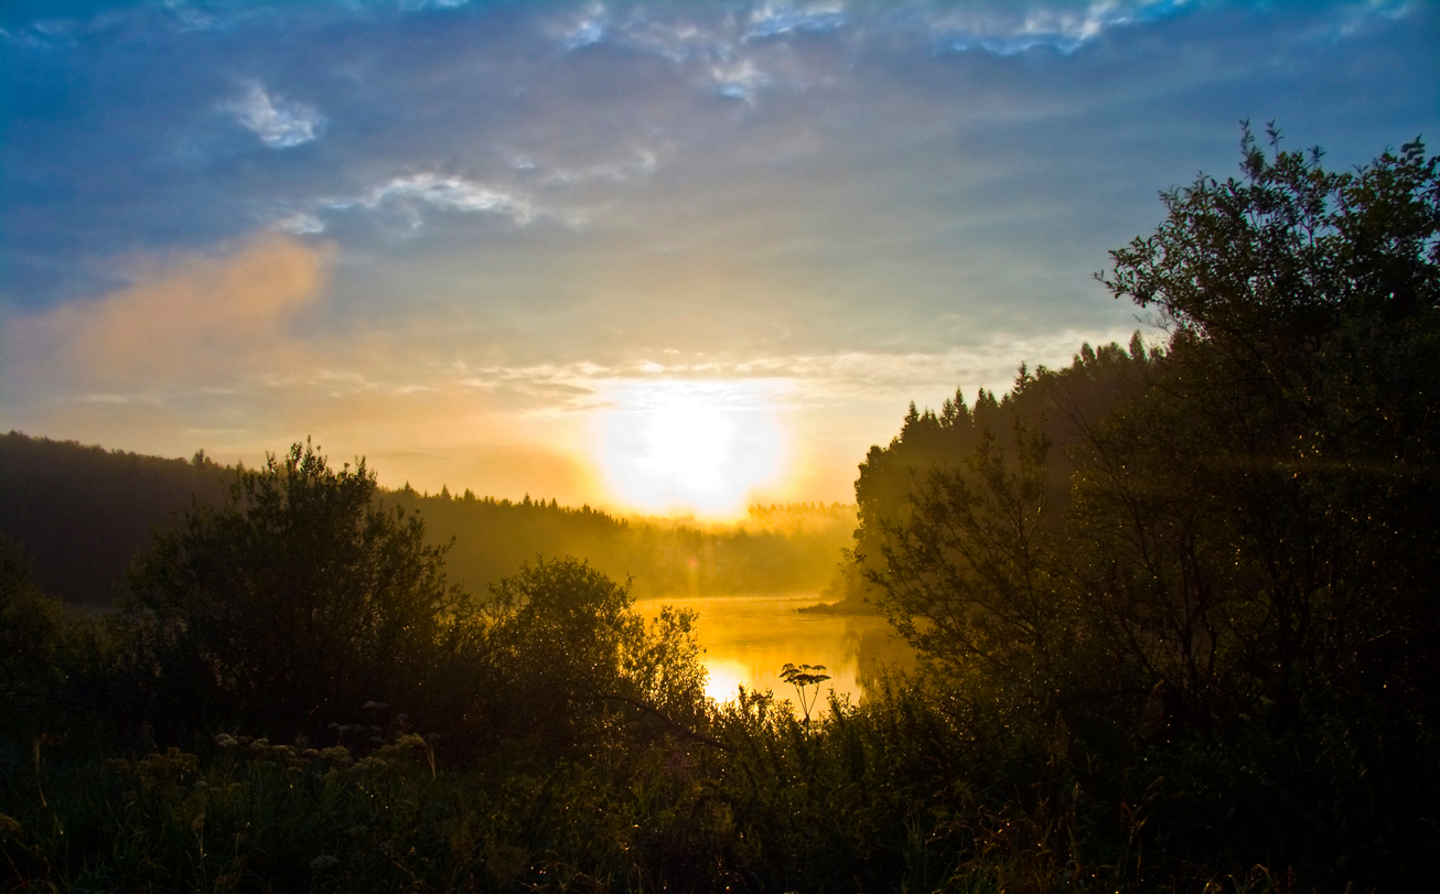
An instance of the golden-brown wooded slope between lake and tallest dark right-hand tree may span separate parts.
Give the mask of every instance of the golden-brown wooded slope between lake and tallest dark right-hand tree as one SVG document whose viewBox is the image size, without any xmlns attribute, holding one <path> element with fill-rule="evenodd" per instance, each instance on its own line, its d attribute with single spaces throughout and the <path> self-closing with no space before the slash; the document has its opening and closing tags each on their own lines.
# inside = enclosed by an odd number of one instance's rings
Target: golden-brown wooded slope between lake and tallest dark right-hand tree
<svg viewBox="0 0 1440 894">
<path fill-rule="evenodd" d="M 855 484 L 855 559 L 868 597 L 966 700 L 972 723 L 1030 734 L 1056 711 L 1133 698 L 1112 638 L 1086 633 L 1074 586 L 1071 453 L 1143 393 L 1162 351 L 1083 346 L 1061 370 L 1021 367 L 996 399 L 962 394 L 939 415 L 912 406 Z"/>
</svg>

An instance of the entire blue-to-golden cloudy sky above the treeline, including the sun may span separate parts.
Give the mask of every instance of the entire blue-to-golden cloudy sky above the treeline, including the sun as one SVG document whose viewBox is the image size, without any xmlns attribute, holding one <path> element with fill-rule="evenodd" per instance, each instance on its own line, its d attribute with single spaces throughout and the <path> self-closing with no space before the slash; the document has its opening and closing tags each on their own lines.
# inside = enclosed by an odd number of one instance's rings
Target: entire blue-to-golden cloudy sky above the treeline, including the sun
<svg viewBox="0 0 1440 894">
<path fill-rule="evenodd" d="M 1420 0 L 0 6 L 0 430 L 723 517 L 1161 337 L 1240 121 L 1440 140 Z"/>
</svg>

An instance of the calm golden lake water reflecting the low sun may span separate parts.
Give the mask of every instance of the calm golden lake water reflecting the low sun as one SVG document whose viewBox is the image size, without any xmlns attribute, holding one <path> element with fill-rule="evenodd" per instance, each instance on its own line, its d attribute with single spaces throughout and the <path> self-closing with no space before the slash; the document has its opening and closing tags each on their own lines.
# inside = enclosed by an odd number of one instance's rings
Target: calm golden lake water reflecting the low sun
<svg viewBox="0 0 1440 894">
<path fill-rule="evenodd" d="M 799 609 L 819 602 L 818 593 L 749 596 L 678 596 L 639 599 L 635 608 L 647 619 L 662 605 L 694 609 L 710 672 L 707 692 L 716 701 L 736 697 L 739 687 L 769 688 L 776 698 L 795 700 L 795 690 L 780 679 L 785 664 L 825 665 L 829 674 L 821 694 L 858 701 L 886 667 L 907 668 L 914 654 L 878 615 L 824 615 Z"/>
</svg>

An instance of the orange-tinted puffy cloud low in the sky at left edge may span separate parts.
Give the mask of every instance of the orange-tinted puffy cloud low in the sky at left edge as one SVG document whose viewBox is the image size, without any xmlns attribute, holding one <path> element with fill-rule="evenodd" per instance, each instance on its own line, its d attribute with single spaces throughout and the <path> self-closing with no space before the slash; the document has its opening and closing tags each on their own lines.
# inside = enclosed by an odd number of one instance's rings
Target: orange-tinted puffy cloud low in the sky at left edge
<svg viewBox="0 0 1440 894">
<path fill-rule="evenodd" d="M 226 256 L 192 255 L 96 301 L 16 320 L 7 374 L 115 390 L 243 374 L 285 353 L 288 324 L 324 292 L 330 252 L 262 236 Z M 37 376 L 37 373 L 40 373 Z"/>
</svg>

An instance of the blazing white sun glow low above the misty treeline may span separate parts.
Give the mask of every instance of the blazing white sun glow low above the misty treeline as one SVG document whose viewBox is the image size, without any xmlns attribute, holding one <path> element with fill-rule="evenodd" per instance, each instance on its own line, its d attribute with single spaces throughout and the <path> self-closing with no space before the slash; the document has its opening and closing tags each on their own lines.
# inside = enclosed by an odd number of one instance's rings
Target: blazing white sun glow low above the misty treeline
<svg viewBox="0 0 1440 894">
<path fill-rule="evenodd" d="M 785 438 L 765 383 L 655 380 L 611 397 L 599 461 L 631 508 L 734 517 L 783 472 Z"/>
</svg>

